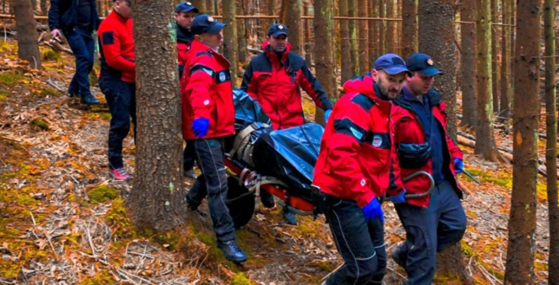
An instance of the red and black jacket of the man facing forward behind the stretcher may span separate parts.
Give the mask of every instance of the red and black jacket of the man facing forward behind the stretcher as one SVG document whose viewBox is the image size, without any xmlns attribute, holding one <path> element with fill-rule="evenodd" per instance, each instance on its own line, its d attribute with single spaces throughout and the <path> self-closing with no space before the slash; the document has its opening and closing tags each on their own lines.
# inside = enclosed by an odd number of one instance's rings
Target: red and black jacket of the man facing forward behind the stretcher
<svg viewBox="0 0 559 285">
<path fill-rule="evenodd" d="M 281 61 L 275 52 L 270 51 L 268 41 L 262 44 L 262 48 L 264 52 L 250 61 L 240 88 L 259 102 L 272 120 L 274 129 L 305 123 L 299 87 L 310 95 L 319 108 L 332 109 L 332 103 L 319 80 L 312 75 L 302 57 L 289 52 L 289 43 Z"/>
</svg>

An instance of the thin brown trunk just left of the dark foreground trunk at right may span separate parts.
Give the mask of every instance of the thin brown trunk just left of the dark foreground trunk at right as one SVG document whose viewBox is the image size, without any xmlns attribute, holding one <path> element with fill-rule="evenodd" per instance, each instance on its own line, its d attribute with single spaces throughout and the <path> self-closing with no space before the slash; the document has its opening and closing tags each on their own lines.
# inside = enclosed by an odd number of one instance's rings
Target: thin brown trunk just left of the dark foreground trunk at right
<svg viewBox="0 0 559 285">
<path fill-rule="evenodd" d="M 502 0 L 502 22 L 505 26 L 501 27 L 501 90 L 499 117 L 509 118 L 511 114 L 511 1 Z"/>
</svg>

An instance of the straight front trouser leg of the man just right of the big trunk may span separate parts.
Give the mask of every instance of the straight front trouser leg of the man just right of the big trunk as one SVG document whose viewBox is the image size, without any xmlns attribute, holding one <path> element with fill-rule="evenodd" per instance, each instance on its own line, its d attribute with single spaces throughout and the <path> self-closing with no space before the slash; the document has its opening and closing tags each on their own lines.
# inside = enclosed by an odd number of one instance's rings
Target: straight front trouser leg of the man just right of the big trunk
<svg viewBox="0 0 559 285">
<path fill-rule="evenodd" d="M 223 140 L 208 138 L 195 140 L 194 148 L 198 165 L 205 176 L 208 190 L 208 205 L 217 240 L 226 242 L 235 239 L 233 218 L 227 207 L 227 177 Z"/>
</svg>

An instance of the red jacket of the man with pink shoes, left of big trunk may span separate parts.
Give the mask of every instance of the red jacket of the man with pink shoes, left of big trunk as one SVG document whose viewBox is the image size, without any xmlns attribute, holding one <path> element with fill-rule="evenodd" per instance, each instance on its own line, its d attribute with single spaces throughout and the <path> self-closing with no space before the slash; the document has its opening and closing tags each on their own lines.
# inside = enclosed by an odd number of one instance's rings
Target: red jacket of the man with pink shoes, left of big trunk
<svg viewBox="0 0 559 285">
<path fill-rule="evenodd" d="M 132 19 L 126 19 L 112 10 L 101 22 L 97 36 L 101 52 L 99 78 L 136 82 Z"/>
</svg>

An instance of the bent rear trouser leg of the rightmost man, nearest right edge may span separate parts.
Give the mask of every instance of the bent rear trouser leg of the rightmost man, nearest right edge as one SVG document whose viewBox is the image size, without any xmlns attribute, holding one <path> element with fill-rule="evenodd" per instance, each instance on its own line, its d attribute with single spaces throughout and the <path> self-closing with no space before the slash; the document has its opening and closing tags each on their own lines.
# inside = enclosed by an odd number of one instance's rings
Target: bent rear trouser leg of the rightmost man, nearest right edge
<svg viewBox="0 0 559 285">
<path fill-rule="evenodd" d="M 460 242 L 467 226 L 467 218 L 460 198 L 448 180 L 440 184 L 440 218 L 437 227 L 437 251 Z"/>
</svg>

